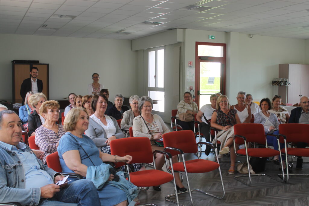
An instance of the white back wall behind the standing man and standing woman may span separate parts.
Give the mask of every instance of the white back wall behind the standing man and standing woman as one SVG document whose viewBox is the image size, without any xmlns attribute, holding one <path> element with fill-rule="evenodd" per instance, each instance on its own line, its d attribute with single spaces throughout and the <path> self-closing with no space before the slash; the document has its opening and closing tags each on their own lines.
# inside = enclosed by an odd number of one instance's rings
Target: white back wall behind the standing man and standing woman
<svg viewBox="0 0 309 206">
<path fill-rule="evenodd" d="M 110 100 L 116 93 L 136 93 L 137 52 L 130 40 L 0 34 L 0 99 L 12 99 L 11 61 L 49 63 L 50 99 L 71 92 L 87 94 L 91 75 L 99 73 Z M 40 73 L 38 78 L 40 78 Z"/>
</svg>

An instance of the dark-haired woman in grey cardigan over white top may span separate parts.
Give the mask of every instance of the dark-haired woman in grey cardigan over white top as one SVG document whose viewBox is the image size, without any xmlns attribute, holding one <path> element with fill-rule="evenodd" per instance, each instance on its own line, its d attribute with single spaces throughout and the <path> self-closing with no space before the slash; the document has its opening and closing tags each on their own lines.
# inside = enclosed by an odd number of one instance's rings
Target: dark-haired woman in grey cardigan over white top
<svg viewBox="0 0 309 206">
<path fill-rule="evenodd" d="M 117 120 L 111 116 L 104 115 L 108 99 L 105 95 L 94 95 L 91 107 L 95 112 L 89 118 L 86 135 L 92 139 L 95 145 L 103 153 L 111 153 L 110 142 L 125 137 Z"/>
</svg>

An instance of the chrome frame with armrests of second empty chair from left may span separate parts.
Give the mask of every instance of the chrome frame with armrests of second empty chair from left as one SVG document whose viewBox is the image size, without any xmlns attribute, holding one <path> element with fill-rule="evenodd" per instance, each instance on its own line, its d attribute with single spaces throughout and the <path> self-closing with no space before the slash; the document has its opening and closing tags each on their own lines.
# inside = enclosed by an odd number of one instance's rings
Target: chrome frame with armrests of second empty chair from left
<svg viewBox="0 0 309 206">
<path fill-rule="evenodd" d="M 209 145 L 212 149 L 215 150 L 215 156 L 216 156 L 216 159 L 217 159 L 217 163 L 219 164 L 219 159 L 218 159 L 218 156 L 217 156 L 217 147 L 216 145 L 212 144 L 212 143 L 209 143 L 209 142 L 198 142 L 197 145 L 199 144 L 203 144 L 203 145 Z M 220 169 L 220 164 L 219 164 L 219 167 L 218 167 L 218 170 L 219 170 L 219 174 L 220 174 L 220 179 L 221 179 L 221 185 L 222 185 L 222 191 L 223 191 L 223 195 L 222 196 L 217 196 L 217 195 L 214 195 L 214 194 L 211 194 L 211 193 L 207 193 L 205 191 L 202 191 L 202 190 L 199 190 L 199 189 L 191 189 L 190 188 L 190 184 L 189 184 L 189 179 L 188 179 L 188 172 L 187 172 L 187 168 L 186 168 L 186 163 L 185 163 L 185 160 L 184 160 L 184 152 L 181 150 L 181 149 L 177 149 L 177 148 L 174 148 L 174 147 L 166 147 L 164 148 L 164 151 L 167 150 L 167 149 L 170 149 L 170 150 L 174 150 L 174 151 L 177 151 L 177 152 L 180 152 L 181 154 L 181 157 L 182 157 L 182 161 L 183 161 L 183 164 L 184 164 L 184 171 L 185 171 L 185 178 L 187 180 L 187 186 L 188 186 L 188 190 L 187 191 L 184 191 L 184 192 L 180 192 L 180 193 L 176 193 L 175 194 L 171 194 L 171 195 L 167 195 L 165 197 L 165 200 L 169 201 L 169 202 L 172 202 L 174 204 L 176 204 L 175 201 L 171 200 L 170 198 L 175 196 L 176 194 L 180 195 L 180 194 L 184 194 L 184 193 L 189 193 L 189 196 L 190 196 L 190 201 L 191 201 L 191 205 L 193 205 L 193 200 L 192 200 L 192 192 L 194 191 L 197 191 L 197 192 L 200 192 L 204 195 L 210 195 L 212 197 L 215 197 L 215 198 L 218 198 L 218 199 L 222 199 L 225 195 L 225 189 L 224 189 L 224 185 L 223 185 L 223 179 L 222 179 L 222 173 L 221 173 L 221 169 Z M 200 159 L 200 156 L 197 155 L 198 159 Z M 172 167 L 171 167 L 172 168 Z M 171 171 L 169 170 L 169 168 L 167 168 L 167 170 L 169 172 L 171 172 L 174 176 L 174 173 L 175 171 Z M 179 172 L 179 171 L 176 171 L 176 172 Z M 177 195 L 176 195 L 177 197 Z M 180 204 L 181 205 L 181 204 Z M 183 205 L 182 205 L 183 206 Z"/>
</svg>

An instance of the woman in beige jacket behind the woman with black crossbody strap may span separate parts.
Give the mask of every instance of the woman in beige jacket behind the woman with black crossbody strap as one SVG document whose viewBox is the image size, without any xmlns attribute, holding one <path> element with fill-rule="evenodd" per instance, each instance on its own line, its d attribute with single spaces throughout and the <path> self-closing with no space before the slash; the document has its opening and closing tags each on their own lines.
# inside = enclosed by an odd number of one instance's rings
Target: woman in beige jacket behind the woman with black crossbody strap
<svg viewBox="0 0 309 206">
<path fill-rule="evenodd" d="M 129 99 L 131 109 L 123 113 L 120 128 L 126 130 L 128 132 L 127 134 L 129 134 L 129 128 L 133 125 L 134 117 L 141 115 L 138 111 L 138 99 L 138 95 L 131 96 Z"/>
</svg>

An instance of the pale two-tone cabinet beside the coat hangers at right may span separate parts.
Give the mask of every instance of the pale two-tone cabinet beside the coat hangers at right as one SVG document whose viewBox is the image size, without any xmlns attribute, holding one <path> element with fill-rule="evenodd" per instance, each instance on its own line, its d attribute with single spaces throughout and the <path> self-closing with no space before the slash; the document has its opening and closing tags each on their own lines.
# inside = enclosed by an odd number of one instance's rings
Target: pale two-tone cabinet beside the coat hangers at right
<svg viewBox="0 0 309 206">
<path fill-rule="evenodd" d="M 278 95 L 282 97 L 282 102 L 299 103 L 302 96 L 309 96 L 309 65 L 302 64 L 279 64 L 279 78 L 287 78 L 290 82 L 288 91 L 286 86 L 279 86 Z"/>
</svg>

